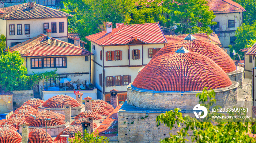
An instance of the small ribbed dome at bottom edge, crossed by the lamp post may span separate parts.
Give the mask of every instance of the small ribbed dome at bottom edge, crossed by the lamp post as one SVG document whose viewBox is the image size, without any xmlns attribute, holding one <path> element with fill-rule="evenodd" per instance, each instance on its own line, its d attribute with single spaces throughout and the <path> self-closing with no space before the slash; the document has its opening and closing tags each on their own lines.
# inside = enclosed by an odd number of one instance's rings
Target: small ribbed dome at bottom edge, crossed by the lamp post
<svg viewBox="0 0 256 143">
<path fill-rule="evenodd" d="M 53 142 L 52 137 L 47 134 L 48 143 Z M 46 131 L 41 128 L 36 128 L 29 133 L 28 143 L 46 143 Z"/>
</svg>

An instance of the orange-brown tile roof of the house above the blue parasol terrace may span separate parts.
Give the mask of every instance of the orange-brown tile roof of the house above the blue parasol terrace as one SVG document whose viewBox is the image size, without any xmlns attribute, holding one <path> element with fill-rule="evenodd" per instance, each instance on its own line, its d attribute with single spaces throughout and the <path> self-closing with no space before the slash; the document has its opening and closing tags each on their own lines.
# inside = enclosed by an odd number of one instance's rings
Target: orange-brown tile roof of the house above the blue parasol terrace
<svg viewBox="0 0 256 143">
<path fill-rule="evenodd" d="M 93 55 L 84 48 L 44 34 L 10 47 L 10 51 L 19 51 L 23 57 Z"/>
</svg>

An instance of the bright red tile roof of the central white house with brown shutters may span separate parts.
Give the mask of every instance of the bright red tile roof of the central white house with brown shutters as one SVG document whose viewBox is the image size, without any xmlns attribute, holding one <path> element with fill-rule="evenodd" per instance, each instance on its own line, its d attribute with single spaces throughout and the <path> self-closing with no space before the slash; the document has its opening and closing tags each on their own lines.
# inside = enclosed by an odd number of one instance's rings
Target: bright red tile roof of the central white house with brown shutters
<svg viewBox="0 0 256 143">
<path fill-rule="evenodd" d="M 106 31 L 86 36 L 87 40 L 94 43 L 106 45 L 126 45 L 132 37 L 145 41 L 147 44 L 167 43 L 159 23 L 145 23 L 124 25 L 112 29 L 112 32 L 106 34 Z"/>
</svg>

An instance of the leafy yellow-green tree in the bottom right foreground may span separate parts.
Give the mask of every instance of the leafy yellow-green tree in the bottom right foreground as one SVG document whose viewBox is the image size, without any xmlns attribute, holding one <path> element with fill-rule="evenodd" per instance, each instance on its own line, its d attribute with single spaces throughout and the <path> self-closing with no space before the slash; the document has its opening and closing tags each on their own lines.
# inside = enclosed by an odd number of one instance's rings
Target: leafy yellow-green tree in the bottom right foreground
<svg viewBox="0 0 256 143">
<path fill-rule="evenodd" d="M 197 94 L 199 96 L 199 104 L 204 106 L 208 110 L 207 116 L 203 119 L 203 122 L 198 121 L 190 116 L 182 117 L 181 110 L 179 108 L 174 111 L 168 111 L 165 114 L 157 116 L 156 121 L 158 125 L 164 123 L 170 130 L 177 124 L 182 128 L 177 131 L 176 135 L 170 134 L 169 138 L 161 140 L 161 142 L 168 143 L 185 143 L 188 141 L 188 131 L 192 132 L 191 140 L 196 143 L 252 143 L 255 139 L 249 137 L 247 132 L 255 131 L 255 124 L 252 126 L 252 122 L 248 120 L 239 120 L 240 122 L 228 122 L 228 120 L 213 119 L 212 116 L 222 115 L 217 112 L 210 113 L 210 107 L 216 103 L 215 92 L 213 90 L 206 90 L 204 88 L 202 93 Z M 218 109 L 219 106 L 212 108 Z M 245 112 L 228 112 L 229 115 L 245 115 Z M 252 120 L 252 119 L 251 119 Z M 215 123 L 215 124 L 212 124 Z"/>
</svg>

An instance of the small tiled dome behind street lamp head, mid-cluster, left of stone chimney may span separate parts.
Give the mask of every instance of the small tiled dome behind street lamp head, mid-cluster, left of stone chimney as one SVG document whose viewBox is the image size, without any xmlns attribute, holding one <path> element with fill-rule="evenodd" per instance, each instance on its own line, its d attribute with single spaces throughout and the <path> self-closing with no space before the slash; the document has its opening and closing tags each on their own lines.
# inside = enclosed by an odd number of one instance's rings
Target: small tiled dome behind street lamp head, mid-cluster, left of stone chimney
<svg viewBox="0 0 256 143">
<path fill-rule="evenodd" d="M 46 119 L 46 118 L 51 119 L 50 121 L 48 121 L 48 125 L 47 125 L 48 127 L 59 126 L 66 123 L 62 116 L 52 111 L 48 111 L 48 110 L 38 111 L 38 112 L 35 112 L 34 115 L 41 119 Z M 34 119 L 34 117 L 30 116 L 25 121 L 29 123 L 29 126 L 32 126 L 32 127 L 46 127 L 45 121 L 38 118 Z"/>
</svg>

